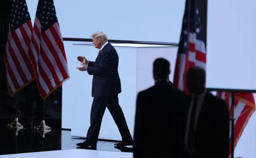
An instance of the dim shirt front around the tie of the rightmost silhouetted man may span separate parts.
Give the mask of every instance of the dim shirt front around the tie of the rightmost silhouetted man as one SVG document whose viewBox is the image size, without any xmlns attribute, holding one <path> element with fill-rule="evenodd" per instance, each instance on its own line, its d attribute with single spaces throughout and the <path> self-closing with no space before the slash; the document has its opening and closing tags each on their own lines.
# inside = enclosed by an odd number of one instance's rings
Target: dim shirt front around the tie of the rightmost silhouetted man
<svg viewBox="0 0 256 158">
<path fill-rule="evenodd" d="M 202 108 L 203 102 L 204 102 L 204 97 L 206 94 L 206 90 L 204 90 L 204 92 L 200 95 L 197 96 L 198 101 L 197 101 L 197 106 L 196 106 L 196 116 L 195 116 L 195 122 L 194 122 L 194 130 L 196 130 L 196 125 L 197 125 L 197 121 L 198 121 L 198 117 L 200 114 L 200 110 Z M 188 150 L 188 134 L 189 134 L 189 126 L 190 126 L 190 118 L 191 118 L 191 112 L 192 112 L 192 108 L 194 106 L 194 98 L 196 97 L 195 94 L 191 94 L 191 102 L 190 102 L 190 106 L 188 109 L 188 118 L 187 118 L 187 123 L 186 123 L 186 134 L 185 134 L 185 148 L 187 152 L 194 152 L 194 149 L 191 151 Z"/>
</svg>

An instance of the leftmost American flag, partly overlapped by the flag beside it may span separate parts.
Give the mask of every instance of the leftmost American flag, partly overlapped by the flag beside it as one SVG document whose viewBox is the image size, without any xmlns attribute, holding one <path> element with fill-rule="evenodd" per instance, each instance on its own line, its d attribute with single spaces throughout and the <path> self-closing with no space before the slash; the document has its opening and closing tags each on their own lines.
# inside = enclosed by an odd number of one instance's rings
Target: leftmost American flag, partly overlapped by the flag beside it
<svg viewBox="0 0 256 158">
<path fill-rule="evenodd" d="M 13 96 L 24 86 L 34 80 L 34 70 L 28 57 L 32 22 L 25 0 L 12 0 L 8 42 L 4 62 L 6 65 L 6 82 Z"/>
</svg>

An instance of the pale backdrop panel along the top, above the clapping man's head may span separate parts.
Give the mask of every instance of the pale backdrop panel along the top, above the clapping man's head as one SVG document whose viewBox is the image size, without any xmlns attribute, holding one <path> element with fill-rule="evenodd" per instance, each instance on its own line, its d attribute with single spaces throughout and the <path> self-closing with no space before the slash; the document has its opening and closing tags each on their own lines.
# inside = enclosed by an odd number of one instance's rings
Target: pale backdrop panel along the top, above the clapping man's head
<svg viewBox="0 0 256 158">
<path fill-rule="evenodd" d="M 34 23 L 38 0 L 26 1 Z M 104 31 L 113 40 L 160 42 L 179 41 L 185 8 L 185 0 L 54 0 L 54 4 L 63 37 L 90 38 Z"/>
</svg>

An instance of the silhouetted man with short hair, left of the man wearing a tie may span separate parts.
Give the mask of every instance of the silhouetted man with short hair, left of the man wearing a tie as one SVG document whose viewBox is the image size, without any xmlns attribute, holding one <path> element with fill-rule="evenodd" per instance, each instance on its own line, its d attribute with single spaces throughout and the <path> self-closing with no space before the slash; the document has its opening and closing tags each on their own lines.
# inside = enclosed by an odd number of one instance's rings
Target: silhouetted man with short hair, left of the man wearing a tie
<svg viewBox="0 0 256 158">
<path fill-rule="evenodd" d="M 134 127 L 134 158 L 178 157 L 177 122 L 186 94 L 170 86 L 170 63 L 153 64 L 155 85 L 138 93 Z M 160 156 L 161 155 L 161 156 Z"/>
</svg>

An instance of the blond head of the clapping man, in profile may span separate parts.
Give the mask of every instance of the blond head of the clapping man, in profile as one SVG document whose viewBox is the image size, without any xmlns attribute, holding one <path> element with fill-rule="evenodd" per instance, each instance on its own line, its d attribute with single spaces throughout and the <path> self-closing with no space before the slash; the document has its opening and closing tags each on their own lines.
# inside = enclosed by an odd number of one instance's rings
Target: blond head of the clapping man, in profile
<svg viewBox="0 0 256 158">
<path fill-rule="evenodd" d="M 108 37 L 102 31 L 97 31 L 92 34 L 92 43 L 94 44 L 95 48 L 100 49 L 104 43 L 108 42 Z"/>
</svg>

